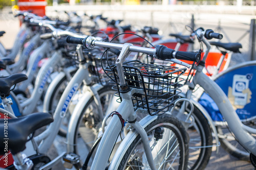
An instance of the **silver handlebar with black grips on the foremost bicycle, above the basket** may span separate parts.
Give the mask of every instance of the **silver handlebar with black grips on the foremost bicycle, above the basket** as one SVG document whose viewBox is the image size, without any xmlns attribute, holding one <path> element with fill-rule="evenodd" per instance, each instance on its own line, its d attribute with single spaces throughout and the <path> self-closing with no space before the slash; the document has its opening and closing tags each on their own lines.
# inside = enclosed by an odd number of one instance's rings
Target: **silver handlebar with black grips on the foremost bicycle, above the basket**
<svg viewBox="0 0 256 170">
<path fill-rule="evenodd" d="M 123 44 L 97 41 L 95 37 L 92 37 L 92 36 L 89 36 L 87 38 L 75 38 L 75 37 L 68 36 L 66 41 L 68 43 L 82 44 L 89 49 L 92 49 L 95 46 L 101 46 L 101 47 L 115 48 L 118 50 L 122 50 L 122 47 L 123 47 Z M 176 52 L 175 50 L 167 48 L 164 45 L 156 45 L 156 48 L 147 48 L 147 47 L 131 45 L 129 47 L 129 51 L 151 54 L 154 56 L 154 58 L 160 59 L 160 60 L 176 58 L 176 59 L 199 62 L 201 58 L 201 55 L 199 53 L 178 52 L 178 51 Z"/>
</svg>

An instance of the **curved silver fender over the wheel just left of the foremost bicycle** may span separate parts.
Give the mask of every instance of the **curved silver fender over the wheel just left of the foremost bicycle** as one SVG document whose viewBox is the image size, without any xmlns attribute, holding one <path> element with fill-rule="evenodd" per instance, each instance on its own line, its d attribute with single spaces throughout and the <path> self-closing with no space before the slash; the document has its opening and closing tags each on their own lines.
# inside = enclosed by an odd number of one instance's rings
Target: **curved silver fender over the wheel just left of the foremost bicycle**
<svg viewBox="0 0 256 170">
<path fill-rule="evenodd" d="M 95 88 L 97 91 L 99 91 L 104 86 L 100 84 L 93 85 L 93 88 Z M 69 126 L 68 126 L 68 134 L 67 134 L 67 152 L 73 153 L 73 145 L 74 145 L 74 134 L 76 129 L 76 123 L 79 119 L 80 113 L 83 110 L 83 107 L 89 102 L 89 100 L 93 97 L 92 93 L 90 91 L 86 91 L 86 93 L 83 94 L 82 98 L 79 99 L 79 102 L 76 104 L 74 111 L 71 114 Z"/>
</svg>

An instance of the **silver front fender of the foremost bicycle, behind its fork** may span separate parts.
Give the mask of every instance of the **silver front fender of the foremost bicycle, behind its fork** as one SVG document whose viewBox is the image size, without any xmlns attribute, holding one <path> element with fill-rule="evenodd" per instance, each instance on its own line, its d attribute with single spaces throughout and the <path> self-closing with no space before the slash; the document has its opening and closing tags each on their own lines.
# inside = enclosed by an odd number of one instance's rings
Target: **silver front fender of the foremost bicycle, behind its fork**
<svg viewBox="0 0 256 170">
<path fill-rule="evenodd" d="M 157 119 L 157 116 L 150 116 L 147 115 L 146 117 L 144 117 L 143 119 L 140 120 L 140 125 L 145 128 L 147 125 L 151 124 L 155 119 Z M 125 138 L 123 139 L 123 141 L 121 142 L 121 144 L 119 145 L 112 161 L 111 164 L 109 166 L 109 169 L 117 169 L 124 154 L 126 153 L 127 149 L 129 148 L 130 144 L 135 140 L 135 138 L 139 135 L 139 133 L 137 131 L 130 131 Z"/>
</svg>

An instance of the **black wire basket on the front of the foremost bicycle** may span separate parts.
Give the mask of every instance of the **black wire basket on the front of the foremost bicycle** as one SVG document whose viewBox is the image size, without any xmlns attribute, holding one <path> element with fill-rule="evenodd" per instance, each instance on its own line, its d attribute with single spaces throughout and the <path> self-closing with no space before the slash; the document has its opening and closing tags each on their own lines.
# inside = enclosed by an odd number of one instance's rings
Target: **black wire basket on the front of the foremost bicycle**
<svg viewBox="0 0 256 170">
<path fill-rule="evenodd" d="M 113 87 L 119 91 L 119 75 L 116 65 L 105 68 L 108 74 L 112 74 L 111 82 L 115 82 Z M 160 115 L 169 111 L 176 100 L 183 86 L 184 81 L 181 75 L 186 68 L 179 69 L 173 66 L 163 66 L 156 64 L 146 64 L 138 60 L 123 63 L 123 72 L 127 85 L 130 88 L 142 89 L 143 94 L 134 93 L 134 108 L 147 110 L 150 115 Z M 121 102 L 120 98 L 118 102 Z"/>
</svg>

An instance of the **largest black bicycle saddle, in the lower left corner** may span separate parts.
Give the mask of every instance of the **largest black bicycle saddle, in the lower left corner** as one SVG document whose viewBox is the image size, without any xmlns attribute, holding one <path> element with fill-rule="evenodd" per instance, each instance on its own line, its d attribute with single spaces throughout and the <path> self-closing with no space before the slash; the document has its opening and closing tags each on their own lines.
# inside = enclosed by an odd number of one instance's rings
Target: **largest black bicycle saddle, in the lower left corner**
<svg viewBox="0 0 256 170">
<path fill-rule="evenodd" d="M 49 113 L 33 113 L 24 117 L 10 118 L 7 121 L 8 123 L 3 118 L 0 119 L 0 131 L 2 132 L 0 133 L 0 154 L 4 154 L 6 141 L 12 154 L 24 151 L 29 134 L 52 123 L 53 117 Z"/>
</svg>

